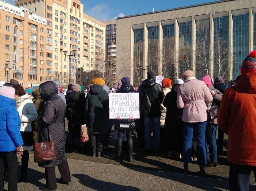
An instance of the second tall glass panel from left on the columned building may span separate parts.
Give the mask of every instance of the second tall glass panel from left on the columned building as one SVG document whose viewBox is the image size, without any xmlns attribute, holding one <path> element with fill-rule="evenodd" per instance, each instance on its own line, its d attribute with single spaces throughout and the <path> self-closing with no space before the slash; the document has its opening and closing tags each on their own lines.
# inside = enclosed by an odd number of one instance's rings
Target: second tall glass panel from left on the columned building
<svg viewBox="0 0 256 191">
<path fill-rule="evenodd" d="M 158 26 L 148 27 L 148 69 L 158 74 Z"/>
</svg>

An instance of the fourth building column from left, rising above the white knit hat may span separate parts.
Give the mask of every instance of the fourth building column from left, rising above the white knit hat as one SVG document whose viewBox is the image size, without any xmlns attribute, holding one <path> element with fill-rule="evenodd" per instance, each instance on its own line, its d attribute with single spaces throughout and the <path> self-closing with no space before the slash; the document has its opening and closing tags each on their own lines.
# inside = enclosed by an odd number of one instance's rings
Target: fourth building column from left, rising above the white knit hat
<svg viewBox="0 0 256 191">
<path fill-rule="evenodd" d="M 177 78 L 182 78 L 182 74 L 179 74 L 179 24 L 176 18 L 174 19 L 174 54 Z"/>
</svg>

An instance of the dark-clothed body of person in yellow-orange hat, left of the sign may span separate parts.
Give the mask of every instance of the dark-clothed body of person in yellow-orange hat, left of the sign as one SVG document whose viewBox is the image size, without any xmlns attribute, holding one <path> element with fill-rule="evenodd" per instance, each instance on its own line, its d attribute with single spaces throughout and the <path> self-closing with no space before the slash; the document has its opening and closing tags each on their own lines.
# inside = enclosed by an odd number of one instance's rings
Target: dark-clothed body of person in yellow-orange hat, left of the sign
<svg viewBox="0 0 256 191">
<path fill-rule="evenodd" d="M 85 122 L 89 125 L 93 157 L 96 151 L 98 157 L 101 157 L 103 145 L 100 137 L 108 131 L 108 94 L 102 85 L 93 84 L 85 98 Z"/>
</svg>

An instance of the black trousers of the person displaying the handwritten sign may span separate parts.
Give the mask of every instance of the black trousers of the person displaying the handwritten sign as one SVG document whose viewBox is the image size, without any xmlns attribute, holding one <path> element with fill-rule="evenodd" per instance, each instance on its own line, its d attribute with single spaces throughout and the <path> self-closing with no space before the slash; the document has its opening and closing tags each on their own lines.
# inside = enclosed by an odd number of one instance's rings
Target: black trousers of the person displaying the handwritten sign
<svg viewBox="0 0 256 191">
<path fill-rule="evenodd" d="M 124 139 L 125 130 L 117 130 L 117 150 L 118 153 L 122 152 L 123 139 Z M 126 130 L 126 138 L 128 142 L 129 154 L 133 154 L 133 140 L 132 140 L 132 130 Z"/>
</svg>

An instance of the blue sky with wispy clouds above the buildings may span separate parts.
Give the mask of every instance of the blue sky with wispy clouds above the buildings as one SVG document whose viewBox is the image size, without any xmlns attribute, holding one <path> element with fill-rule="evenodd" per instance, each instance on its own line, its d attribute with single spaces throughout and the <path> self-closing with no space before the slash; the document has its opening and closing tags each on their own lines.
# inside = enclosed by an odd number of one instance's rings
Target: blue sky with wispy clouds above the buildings
<svg viewBox="0 0 256 191">
<path fill-rule="evenodd" d="M 178 8 L 216 0 L 81 0 L 84 4 L 84 13 L 106 21 L 120 16 Z M 100 13 L 100 14 L 99 14 Z"/>
</svg>

